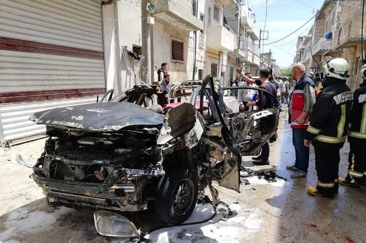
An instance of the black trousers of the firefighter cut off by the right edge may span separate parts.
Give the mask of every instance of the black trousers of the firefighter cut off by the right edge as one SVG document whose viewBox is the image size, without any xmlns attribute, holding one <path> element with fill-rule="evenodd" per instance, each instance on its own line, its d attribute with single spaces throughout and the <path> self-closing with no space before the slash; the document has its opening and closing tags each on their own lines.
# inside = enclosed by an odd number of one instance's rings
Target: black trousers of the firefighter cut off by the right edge
<svg viewBox="0 0 366 243">
<path fill-rule="evenodd" d="M 348 179 L 363 182 L 366 173 L 366 146 L 350 142 L 348 162 Z"/>
</svg>

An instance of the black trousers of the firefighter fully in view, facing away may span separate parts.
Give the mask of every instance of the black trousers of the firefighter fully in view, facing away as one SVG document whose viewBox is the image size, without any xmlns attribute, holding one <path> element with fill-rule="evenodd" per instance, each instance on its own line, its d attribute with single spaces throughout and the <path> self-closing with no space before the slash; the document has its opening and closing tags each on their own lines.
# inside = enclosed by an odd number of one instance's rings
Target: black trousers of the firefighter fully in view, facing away
<svg viewBox="0 0 366 243">
<path fill-rule="evenodd" d="M 317 190 L 332 197 L 338 192 L 338 169 L 341 160 L 340 149 L 343 144 L 327 144 L 313 141 L 315 150 L 315 169 L 318 175 Z"/>
</svg>

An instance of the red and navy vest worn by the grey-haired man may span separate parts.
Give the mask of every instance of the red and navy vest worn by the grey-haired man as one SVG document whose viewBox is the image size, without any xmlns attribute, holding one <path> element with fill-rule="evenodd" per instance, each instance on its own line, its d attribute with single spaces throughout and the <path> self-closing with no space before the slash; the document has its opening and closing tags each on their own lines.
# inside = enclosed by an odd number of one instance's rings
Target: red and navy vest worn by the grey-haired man
<svg viewBox="0 0 366 243">
<path fill-rule="evenodd" d="M 291 128 L 306 128 L 308 123 L 304 125 L 298 124 L 296 121 L 299 118 L 304 110 L 305 107 L 305 97 L 304 97 L 304 88 L 305 85 L 309 84 L 315 87 L 315 84 L 311 78 L 309 78 L 306 74 L 302 75 L 300 80 L 296 83 L 294 92 L 291 95 L 290 101 L 290 121 L 291 121 Z M 308 120 L 310 120 L 311 114 L 309 114 Z"/>
</svg>

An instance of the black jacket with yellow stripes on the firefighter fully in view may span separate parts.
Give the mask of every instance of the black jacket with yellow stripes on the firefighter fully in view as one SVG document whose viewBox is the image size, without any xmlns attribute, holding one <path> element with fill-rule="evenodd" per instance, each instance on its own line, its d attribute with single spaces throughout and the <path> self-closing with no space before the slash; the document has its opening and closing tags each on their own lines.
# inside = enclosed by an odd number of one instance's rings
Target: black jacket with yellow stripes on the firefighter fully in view
<svg viewBox="0 0 366 243">
<path fill-rule="evenodd" d="M 348 133 L 353 94 L 344 80 L 332 79 L 317 96 L 305 139 L 343 146 Z"/>
</svg>

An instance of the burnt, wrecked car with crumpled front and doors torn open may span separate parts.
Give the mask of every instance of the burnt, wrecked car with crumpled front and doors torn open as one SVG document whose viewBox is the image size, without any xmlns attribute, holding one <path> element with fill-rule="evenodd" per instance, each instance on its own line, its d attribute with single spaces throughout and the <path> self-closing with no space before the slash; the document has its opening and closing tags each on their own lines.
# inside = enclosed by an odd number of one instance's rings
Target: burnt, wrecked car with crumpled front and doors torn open
<svg viewBox="0 0 366 243">
<path fill-rule="evenodd" d="M 146 107 L 156 88 L 144 86 L 35 113 L 30 119 L 46 125 L 49 139 L 32 177 L 50 206 L 155 207 L 162 221 L 179 224 L 205 187 L 219 203 L 213 180 L 239 192 L 241 156 L 258 154 L 276 133 L 278 109 L 234 112 L 223 96 L 230 88 L 207 76 L 190 102 L 166 114 Z"/>
</svg>

